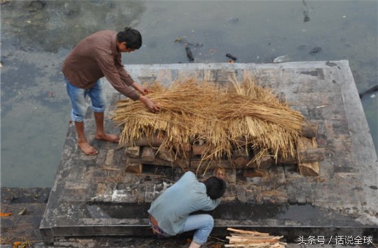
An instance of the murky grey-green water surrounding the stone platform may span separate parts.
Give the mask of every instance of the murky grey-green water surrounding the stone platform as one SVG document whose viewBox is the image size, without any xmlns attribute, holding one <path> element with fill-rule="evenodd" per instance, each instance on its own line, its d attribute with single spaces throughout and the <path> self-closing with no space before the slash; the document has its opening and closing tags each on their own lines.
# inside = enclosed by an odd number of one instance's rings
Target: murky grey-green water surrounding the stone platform
<svg viewBox="0 0 378 248">
<path fill-rule="evenodd" d="M 125 64 L 187 63 L 178 37 L 194 63 L 346 59 L 361 93 L 378 84 L 377 12 L 377 1 L 1 0 L 1 185 L 52 185 L 70 111 L 60 66 L 93 32 L 140 30 Z M 378 92 L 362 103 L 378 147 Z"/>
</svg>

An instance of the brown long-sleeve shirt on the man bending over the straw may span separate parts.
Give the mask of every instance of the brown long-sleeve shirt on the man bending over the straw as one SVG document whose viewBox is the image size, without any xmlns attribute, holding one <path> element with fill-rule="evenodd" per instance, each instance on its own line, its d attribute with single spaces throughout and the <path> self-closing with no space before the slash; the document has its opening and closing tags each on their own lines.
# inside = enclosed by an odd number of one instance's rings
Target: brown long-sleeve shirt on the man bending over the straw
<svg viewBox="0 0 378 248">
<path fill-rule="evenodd" d="M 116 32 L 100 31 L 80 41 L 65 59 L 63 74 L 82 89 L 89 89 L 105 76 L 117 91 L 138 100 L 140 95 L 130 87 L 133 78 L 124 70 L 116 38 Z"/>
</svg>

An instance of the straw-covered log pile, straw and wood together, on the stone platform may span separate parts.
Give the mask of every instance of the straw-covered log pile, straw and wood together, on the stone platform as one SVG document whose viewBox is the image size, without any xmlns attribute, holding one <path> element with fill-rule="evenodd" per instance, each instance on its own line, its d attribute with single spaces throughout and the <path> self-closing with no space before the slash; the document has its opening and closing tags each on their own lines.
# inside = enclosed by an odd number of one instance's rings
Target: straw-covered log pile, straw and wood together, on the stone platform
<svg viewBox="0 0 378 248">
<path fill-rule="evenodd" d="M 113 117 L 122 126 L 120 144 L 130 172 L 141 172 L 143 164 L 197 172 L 298 164 L 304 175 L 319 173 L 324 149 L 316 144 L 318 124 L 254 80 L 221 89 L 195 80 L 150 88 L 148 98 L 159 104 L 159 113 L 125 99 Z"/>
</svg>

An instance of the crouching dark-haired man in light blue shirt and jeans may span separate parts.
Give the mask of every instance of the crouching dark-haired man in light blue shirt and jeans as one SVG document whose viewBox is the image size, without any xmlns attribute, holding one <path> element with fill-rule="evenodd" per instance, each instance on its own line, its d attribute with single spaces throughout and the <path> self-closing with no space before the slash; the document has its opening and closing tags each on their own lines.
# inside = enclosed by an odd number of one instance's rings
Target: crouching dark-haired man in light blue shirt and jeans
<svg viewBox="0 0 378 248">
<path fill-rule="evenodd" d="M 189 248 L 201 247 L 212 232 L 214 219 L 210 214 L 190 214 L 214 210 L 225 188 L 225 181 L 219 177 L 210 177 L 202 183 L 193 172 L 186 172 L 151 203 L 148 214 L 153 232 L 169 237 L 195 230 Z"/>
</svg>

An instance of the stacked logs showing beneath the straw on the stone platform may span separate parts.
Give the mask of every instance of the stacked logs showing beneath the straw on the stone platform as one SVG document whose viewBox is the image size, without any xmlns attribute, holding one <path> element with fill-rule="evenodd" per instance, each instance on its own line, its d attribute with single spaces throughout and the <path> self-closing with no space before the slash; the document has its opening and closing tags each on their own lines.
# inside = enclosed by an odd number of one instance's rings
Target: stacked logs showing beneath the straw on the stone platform
<svg viewBox="0 0 378 248">
<path fill-rule="evenodd" d="M 265 171 L 274 164 L 298 164 L 300 174 L 316 176 L 319 174 L 318 162 L 324 160 L 324 148 L 318 148 L 315 140 L 318 124 L 305 122 L 301 133 L 302 136 L 297 139 L 295 156 L 279 157 L 275 161 L 272 155 L 265 155 L 258 162 L 254 160 L 254 156 L 259 154 L 258 148 L 255 148 L 252 144 L 245 144 L 244 141 L 239 142 L 238 145 L 233 145 L 232 159 L 208 161 L 203 156 L 205 141 L 188 145 L 190 156 L 183 158 L 175 154 L 173 150 L 162 148 L 162 137 L 141 137 L 133 145 L 126 146 L 126 170 L 141 173 L 143 164 L 151 164 L 155 166 L 179 166 L 197 171 L 206 170 L 209 166 L 225 169 L 253 168 Z"/>
</svg>

